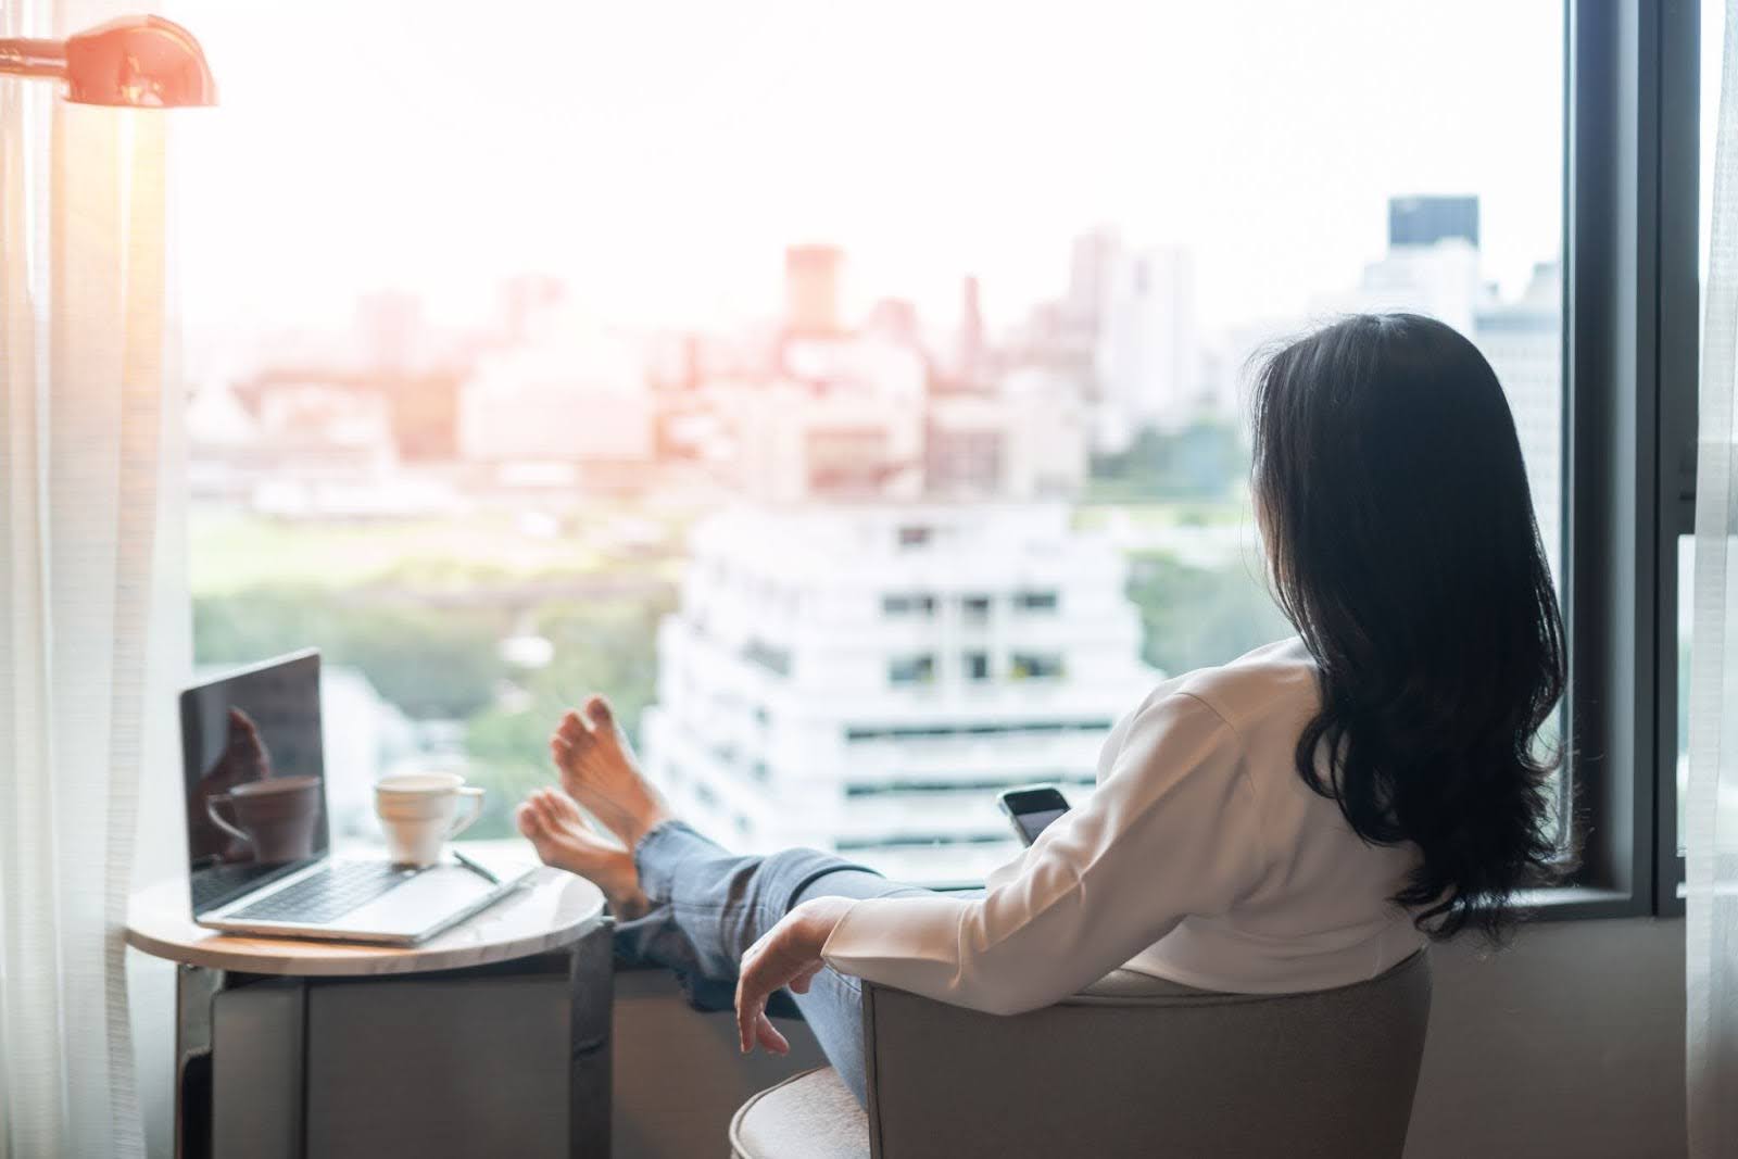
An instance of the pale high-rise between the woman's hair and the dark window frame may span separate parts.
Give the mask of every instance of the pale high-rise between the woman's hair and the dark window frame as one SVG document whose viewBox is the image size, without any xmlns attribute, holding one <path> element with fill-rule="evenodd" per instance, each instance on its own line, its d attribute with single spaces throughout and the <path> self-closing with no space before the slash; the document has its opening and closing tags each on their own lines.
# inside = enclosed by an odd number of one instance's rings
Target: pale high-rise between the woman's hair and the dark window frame
<svg viewBox="0 0 1738 1159">
<path fill-rule="evenodd" d="M 1528 490 L 1552 575 L 1562 561 L 1562 268 L 1540 262 L 1514 302 L 1489 304 L 1472 332 L 1509 396 Z"/>
</svg>

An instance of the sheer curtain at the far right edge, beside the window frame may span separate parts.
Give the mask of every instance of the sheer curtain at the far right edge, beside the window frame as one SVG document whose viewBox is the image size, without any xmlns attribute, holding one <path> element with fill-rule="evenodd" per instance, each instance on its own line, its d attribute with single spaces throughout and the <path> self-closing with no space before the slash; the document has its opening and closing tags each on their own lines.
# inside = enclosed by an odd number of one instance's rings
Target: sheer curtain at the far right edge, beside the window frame
<svg viewBox="0 0 1738 1159">
<path fill-rule="evenodd" d="M 1722 0 L 1707 0 L 1710 3 Z M 1726 2 L 1702 412 L 1686 801 L 1686 1043 L 1689 1154 L 1738 1154 L 1738 0 Z"/>
</svg>

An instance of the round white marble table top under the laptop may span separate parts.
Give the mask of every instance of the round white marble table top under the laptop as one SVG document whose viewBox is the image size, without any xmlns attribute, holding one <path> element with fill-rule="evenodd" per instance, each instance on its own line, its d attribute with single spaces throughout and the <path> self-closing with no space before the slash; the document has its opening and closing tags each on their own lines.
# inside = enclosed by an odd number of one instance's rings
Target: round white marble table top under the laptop
<svg viewBox="0 0 1738 1159">
<path fill-rule="evenodd" d="M 488 909 L 421 945 L 363 945 L 219 933 L 193 924 L 188 879 L 170 878 L 132 897 L 127 945 L 155 957 L 297 977 L 358 977 L 457 970 L 511 961 L 577 942 L 603 916 L 603 891 L 541 865 Z"/>
</svg>

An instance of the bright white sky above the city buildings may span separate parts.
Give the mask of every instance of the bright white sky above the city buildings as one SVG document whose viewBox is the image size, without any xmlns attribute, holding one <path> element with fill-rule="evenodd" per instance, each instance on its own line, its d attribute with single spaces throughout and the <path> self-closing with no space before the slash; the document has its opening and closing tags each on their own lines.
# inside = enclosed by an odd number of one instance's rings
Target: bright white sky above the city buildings
<svg viewBox="0 0 1738 1159">
<path fill-rule="evenodd" d="M 1562 3 L 167 0 L 222 106 L 182 113 L 188 321 L 276 328 L 422 292 L 483 318 L 556 273 L 633 323 L 779 308 L 787 242 L 853 308 L 992 321 L 1116 222 L 1196 254 L 1208 327 L 1382 254 L 1394 193 L 1477 193 L 1486 271 L 1556 257 Z"/>
</svg>

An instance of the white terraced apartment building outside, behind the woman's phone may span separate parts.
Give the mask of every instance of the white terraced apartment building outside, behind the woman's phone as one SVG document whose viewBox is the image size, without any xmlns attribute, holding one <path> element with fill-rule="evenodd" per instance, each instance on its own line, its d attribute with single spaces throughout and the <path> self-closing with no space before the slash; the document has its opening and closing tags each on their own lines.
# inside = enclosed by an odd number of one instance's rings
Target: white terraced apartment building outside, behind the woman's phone
<svg viewBox="0 0 1738 1159">
<path fill-rule="evenodd" d="M 660 629 L 647 768 L 732 848 L 978 878 L 1018 848 L 996 792 L 1083 799 L 1158 678 L 1123 584 L 1062 502 L 721 513 Z"/>
</svg>

